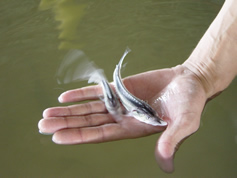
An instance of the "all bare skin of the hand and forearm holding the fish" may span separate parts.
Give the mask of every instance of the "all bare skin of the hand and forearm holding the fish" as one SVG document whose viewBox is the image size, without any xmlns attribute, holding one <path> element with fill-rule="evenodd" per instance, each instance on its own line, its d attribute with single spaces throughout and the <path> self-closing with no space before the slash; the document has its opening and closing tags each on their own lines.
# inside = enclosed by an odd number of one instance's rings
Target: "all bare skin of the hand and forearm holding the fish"
<svg viewBox="0 0 237 178">
<path fill-rule="evenodd" d="M 90 101 L 46 109 L 38 124 L 40 132 L 53 134 L 57 144 L 100 143 L 163 132 L 155 147 L 155 157 L 163 171 L 173 172 L 175 152 L 198 130 L 205 104 L 227 88 L 237 74 L 236 9 L 236 0 L 225 1 L 183 64 L 123 80 L 132 94 L 158 112 L 167 127 L 144 124 L 126 115 L 115 121 L 104 103 L 98 101 L 101 88 L 89 86 L 62 93 L 61 103 Z"/>
</svg>

